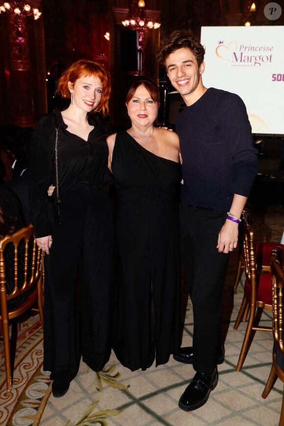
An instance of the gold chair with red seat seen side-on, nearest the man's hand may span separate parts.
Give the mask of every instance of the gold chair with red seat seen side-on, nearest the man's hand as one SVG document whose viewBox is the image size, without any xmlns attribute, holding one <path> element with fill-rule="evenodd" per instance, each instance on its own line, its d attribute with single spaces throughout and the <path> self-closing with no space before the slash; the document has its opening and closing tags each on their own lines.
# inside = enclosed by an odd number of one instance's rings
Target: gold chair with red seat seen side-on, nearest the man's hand
<svg viewBox="0 0 284 426">
<path fill-rule="evenodd" d="M 272 331 L 272 327 L 259 326 L 262 310 L 265 309 L 272 311 L 271 274 L 257 270 L 254 231 L 246 221 L 245 215 L 242 218 L 242 226 L 244 236 L 243 252 L 246 280 L 244 284 L 244 295 L 237 314 L 234 329 L 237 330 L 240 322 L 246 321 L 247 315 L 249 316 L 243 344 L 237 362 L 237 371 L 240 371 L 242 368 L 253 337 L 253 331 Z"/>
</svg>

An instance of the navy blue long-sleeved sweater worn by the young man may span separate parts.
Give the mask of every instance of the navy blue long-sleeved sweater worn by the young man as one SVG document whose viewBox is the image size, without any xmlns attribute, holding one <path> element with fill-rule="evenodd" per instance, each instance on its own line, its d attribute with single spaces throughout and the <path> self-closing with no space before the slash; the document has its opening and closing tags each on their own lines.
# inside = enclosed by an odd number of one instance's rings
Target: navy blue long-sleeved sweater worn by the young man
<svg viewBox="0 0 284 426">
<path fill-rule="evenodd" d="M 249 195 L 258 159 L 246 108 L 238 95 L 208 89 L 181 112 L 176 130 L 185 203 L 227 210 L 234 194 Z"/>
</svg>

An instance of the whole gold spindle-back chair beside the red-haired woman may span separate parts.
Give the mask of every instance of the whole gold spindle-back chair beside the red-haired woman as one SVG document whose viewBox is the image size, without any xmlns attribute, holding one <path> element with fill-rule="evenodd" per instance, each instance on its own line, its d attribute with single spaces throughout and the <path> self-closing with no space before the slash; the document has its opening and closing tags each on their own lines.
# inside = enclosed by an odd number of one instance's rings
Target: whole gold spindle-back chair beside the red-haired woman
<svg viewBox="0 0 284 426">
<path fill-rule="evenodd" d="M 20 316 L 37 302 L 43 324 L 42 283 L 42 253 L 32 225 L 0 239 L 0 331 L 8 391 L 12 390 L 13 382 L 9 322 L 15 319 L 12 321 L 14 334 Z M 17 332 L 15 335 L 17 337 Z"/>
</svg>

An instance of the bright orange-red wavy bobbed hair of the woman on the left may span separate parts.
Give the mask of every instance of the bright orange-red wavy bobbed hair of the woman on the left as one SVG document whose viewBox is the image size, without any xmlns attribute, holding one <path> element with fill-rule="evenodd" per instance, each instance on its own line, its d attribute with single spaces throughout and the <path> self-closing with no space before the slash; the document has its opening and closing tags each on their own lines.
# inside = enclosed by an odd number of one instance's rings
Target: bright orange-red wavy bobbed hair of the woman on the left
<svg viewBox="0 0 284 426">
<path fill-rule="evenodd" d="M 94 75 L 94 77 L 100 79 L 103 91 L 101 101 L 94 111 L 101 110 L 103 117 L 106 117 L 109 113 L 108 102 L 111 95 L 110 74 L 97 62 L 88 59 L 80 59 L 74 62 L 59 78 L 56 93 L 59 93 L 62 97 L 71 97 L 68 82 L 74 84 L 78 78 L 85 75 Z"/>
</svg>

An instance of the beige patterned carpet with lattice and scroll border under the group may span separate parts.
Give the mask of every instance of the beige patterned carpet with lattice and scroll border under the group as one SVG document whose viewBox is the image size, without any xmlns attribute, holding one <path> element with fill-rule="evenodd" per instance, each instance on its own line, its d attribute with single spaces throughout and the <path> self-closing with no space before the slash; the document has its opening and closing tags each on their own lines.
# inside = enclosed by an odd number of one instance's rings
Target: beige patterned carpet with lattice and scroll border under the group
<svg viewBox="0 0 284 426">
<path fill-rule="evenodd" d="M 283 233 L 283 208 L 254 214 L 257 240 L 280 241 Z M 13 391 L 6 392 L 5 369 L 0 345 L 0 424 L 1 425 L 278 425 L 283 383 L 278 380 L 266 400 L 261 393 L 272 359 L 272 333 L 257 331 L 241 372 L 236 364 L 246 324 L 234 330 L 242 299 L 242 284 L 232 295 L 237 252 L 231 256 L 223 301 L 222 332 L 225 362 L 218 366 L 219 382 L 203 407 L 190 413 L 178 408 L 178 400 L 193 377 L 192 366 L 172 357 L 166 365 L 147 371 L 131 372 L 121 366 L 114 354 L 100 373 L 81 362 L 79 373 L 68 393 L 59 399 L 51 395 L 48 373 L 42 371 L 43 342 L 38 315 L 29 317 L 18 337 Z M 242 277 L 243 280 L 243 277 Z M 263 324 L 271 323 L 264 312 Z M 183 345 L 191 343 L 192 309 L 187 305 Z"/>
</svg>

